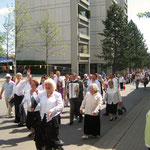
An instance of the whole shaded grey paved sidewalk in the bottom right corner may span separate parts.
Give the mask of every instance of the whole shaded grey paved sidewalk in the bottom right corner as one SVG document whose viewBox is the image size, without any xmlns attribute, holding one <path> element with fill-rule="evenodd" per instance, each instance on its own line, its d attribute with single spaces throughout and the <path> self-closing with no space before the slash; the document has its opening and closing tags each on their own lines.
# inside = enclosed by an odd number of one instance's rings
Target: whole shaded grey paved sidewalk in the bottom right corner
<svg viewBox="0 0 150 150">
<path fill-rule="evenodd" d="M 147 150 L 144 130 L 145 117 L 149 109 L 150 93 L 89 150 Z"/>
</svg>

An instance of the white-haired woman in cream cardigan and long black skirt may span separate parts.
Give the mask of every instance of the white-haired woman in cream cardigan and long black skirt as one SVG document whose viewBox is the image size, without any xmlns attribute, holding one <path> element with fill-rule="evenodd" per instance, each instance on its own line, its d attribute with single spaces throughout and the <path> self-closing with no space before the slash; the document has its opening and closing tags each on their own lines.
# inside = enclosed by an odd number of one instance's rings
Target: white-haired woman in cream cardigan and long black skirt
<svg viewBox="0 0 150 150">
<path fill-rule="evenodd" d="M 99 93 L 99 87 L 96 83 L 92 83 L 89 86 L 89 92 L 86 93 L 82 105 L 80 107 L 80 113 L 83 113 L 85 109 L 84 118 L 84 135 L 83 139 L 87 139 L 89 135 L 100 135 L 100 108 L 102 103 L 102 96 Z"/>
</svg>

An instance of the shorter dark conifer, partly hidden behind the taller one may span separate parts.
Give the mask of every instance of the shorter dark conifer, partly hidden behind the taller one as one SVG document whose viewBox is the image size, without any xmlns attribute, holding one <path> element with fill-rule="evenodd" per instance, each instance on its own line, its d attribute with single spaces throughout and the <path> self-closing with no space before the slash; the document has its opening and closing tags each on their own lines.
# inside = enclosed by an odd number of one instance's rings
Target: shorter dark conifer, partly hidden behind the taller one
<svg viewBox="0 0 150 150">
<path fill-rule="evenodd" d="M 128 24 L 128 66 L 129 68 L 144 67 L 149 62 L 149 53 L 143 34 L 138 29 L 137 25 L 130 20 Z"/>
</svg>

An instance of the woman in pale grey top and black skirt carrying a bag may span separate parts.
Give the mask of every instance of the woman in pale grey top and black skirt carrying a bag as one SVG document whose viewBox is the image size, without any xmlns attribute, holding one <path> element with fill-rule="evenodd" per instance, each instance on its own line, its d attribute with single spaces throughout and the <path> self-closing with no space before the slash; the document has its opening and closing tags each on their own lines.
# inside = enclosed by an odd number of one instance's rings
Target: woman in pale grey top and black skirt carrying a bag
<svg viewBox="0 0 150 150">
<path fill-rule="evenodd" d="M 122 98 L 118 88 L 114 87 L 113 81 L 109 81 L 108 85 L 109 87 L 106 91 L 104 101 L 106 101 L 108 105 L 108 113 L 110 115 L 110 121 L 113 121 L 113 117 L 117 119 L 117 107 L 118 103 L 122 101 Z"/>
</svg>

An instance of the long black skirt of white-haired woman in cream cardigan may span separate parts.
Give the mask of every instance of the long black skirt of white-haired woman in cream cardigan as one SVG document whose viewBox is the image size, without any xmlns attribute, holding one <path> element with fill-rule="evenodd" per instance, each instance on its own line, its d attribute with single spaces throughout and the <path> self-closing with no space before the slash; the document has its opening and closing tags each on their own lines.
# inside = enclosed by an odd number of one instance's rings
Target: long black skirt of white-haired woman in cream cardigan
<svg viewBox="0 0 150 150">
<path fill-rule="evenodd" d="M 100 135 L 100 114 L 98 116 L 86 115 L 84 117 L 84 134 Z"/>
</svg>

